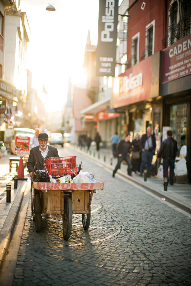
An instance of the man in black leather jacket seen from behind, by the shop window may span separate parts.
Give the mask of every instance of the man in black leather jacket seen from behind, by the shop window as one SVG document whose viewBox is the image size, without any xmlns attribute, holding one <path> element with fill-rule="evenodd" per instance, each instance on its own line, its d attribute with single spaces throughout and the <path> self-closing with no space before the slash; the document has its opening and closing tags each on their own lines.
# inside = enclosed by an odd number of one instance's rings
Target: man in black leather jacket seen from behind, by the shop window
<svg viewBox="0 0 191 286">
<path fill-rule="evenodd" d="M 167 131 L 167 139 L 165 139 L 158 152 L 158 159 L 163 158 L 163 177 L 168 178 L 168 167 L 170 166 L 170 184 L 174 184 L 174 167 L 177 152 L 177 141 L 172 138 L 172 131 Z"/>
</svg>

